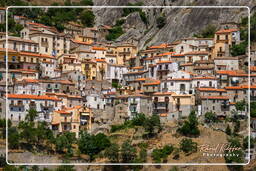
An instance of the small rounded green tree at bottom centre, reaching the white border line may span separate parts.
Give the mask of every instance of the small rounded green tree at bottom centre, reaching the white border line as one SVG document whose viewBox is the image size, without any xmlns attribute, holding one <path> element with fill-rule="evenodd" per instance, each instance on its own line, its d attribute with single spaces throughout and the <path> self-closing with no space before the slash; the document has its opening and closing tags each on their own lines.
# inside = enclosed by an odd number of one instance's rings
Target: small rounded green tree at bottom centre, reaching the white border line
<svg viewBox="0 0 256 171">
<path fill-rule="evenodd" d="M 136 149 L 130 141 L 125 141 L 121 147 L 121 158 L 123 163 L 132 163 L 136 158 Z"/>
</svg>

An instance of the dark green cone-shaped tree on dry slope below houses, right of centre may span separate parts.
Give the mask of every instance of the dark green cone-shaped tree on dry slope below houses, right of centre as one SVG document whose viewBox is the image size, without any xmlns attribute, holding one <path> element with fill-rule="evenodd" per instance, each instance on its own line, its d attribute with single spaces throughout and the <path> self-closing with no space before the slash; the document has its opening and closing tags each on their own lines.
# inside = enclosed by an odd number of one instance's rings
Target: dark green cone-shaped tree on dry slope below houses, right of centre
<svg viewBox="0 0 256 171">
<path fill-rule="evenodd" d="M 198 129 L 198 120 L 195 111 L 190 112 L 188 120 L 186 120 L 184 124 L 180 128 L 178 128 L 177 131 L 185 136 L 200 135 L 200 131 Z"/>
</svg>

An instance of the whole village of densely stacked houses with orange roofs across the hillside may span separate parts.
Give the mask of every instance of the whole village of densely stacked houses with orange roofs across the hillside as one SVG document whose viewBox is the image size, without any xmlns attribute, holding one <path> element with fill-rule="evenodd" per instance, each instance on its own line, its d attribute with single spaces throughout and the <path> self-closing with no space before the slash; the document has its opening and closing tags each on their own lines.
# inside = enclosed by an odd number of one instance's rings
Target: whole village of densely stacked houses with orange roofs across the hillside
<svg viewBox="0 0 256 171">
<path fill-rule="evenodd" d="M 0 13 L 2 23 L 3 18 Z M 192 111 L 198 118 L 212 112 L 220 120 L 234 113 L 245 119 L 248 110 L 239 111 L 236 104 L 256 98 L 256 49 L 251 66 L 248 53 L 231 55 L 242 41 L 235 23 L 224 23 L 213 38 L 138 49 L 132 41 L 100 42 L 108 25 L 69 22 L 59 32 L 23 16 L 14 20 L 24 27 L 20 37 L 8 36 L 7 46 L 6 33 L 0 33 L 0 111 L 13 125 L 35 109 L 36 120 L 46 121 L 55 135 L 72 132 L 78 138 L 82 130 L 109 132 L 139 113 L 158 115 L 163 124 Z M 254 120 L 252 126 L 254 133 Z"/>
</svg>

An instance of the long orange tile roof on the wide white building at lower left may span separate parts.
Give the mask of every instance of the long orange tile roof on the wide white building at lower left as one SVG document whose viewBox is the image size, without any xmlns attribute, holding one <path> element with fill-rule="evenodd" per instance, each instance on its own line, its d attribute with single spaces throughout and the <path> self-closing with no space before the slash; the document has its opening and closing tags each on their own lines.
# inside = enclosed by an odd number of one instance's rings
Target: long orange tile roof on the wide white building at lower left
<svg viewBox="0 0 256 171">
<path fill-rule="evenodd" d="M 34 100 L 52 100 L 52 101 L 60 101 L 56 97 L 51 97 L 47 95 L 31 95 L 31 94 L 8 94 L 8 98 L 11 99 L 34 99 Z"/>
</svg>

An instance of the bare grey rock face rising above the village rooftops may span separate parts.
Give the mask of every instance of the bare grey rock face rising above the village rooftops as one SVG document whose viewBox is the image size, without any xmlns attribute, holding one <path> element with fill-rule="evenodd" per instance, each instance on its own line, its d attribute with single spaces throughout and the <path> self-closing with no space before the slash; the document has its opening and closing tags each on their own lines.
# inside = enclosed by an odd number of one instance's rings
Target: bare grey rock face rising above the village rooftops
<svg viewBox="0 0 256 171">
<path fill-rule="evenodd" d="M 143 2 L 145 6 L 249 6 L 252 8 L 256 0 L 141 0 L 141 1 L 123 1 L 123 0 L 94 0 L 97 6 L 124 6 L 128 3 Z M 120 8 L 94 8 L 96 15 L 96 25 L 107 24 L 114 25 L 115 21 L 122 16 Z M 238 9 L 191 9 L 191 8 L 144 8 L 147 15 L 148 24 L 145 25 L 138 13 L 131 13 L 125 19 L 123 24 L 125 34 L 119 37 L 118 41 L 133 41 L 142 49 L 146 46 L 172 42 L 176 39 L 192 36 L 199 32 L 208 24 L 219 26 L 223 22 L 239 22 L 241 16 L 247 16 L 246 8 Z M 156 27 L 156 19 L 164 15 L 166 24 L 163 28 Z"/>
</svg>

